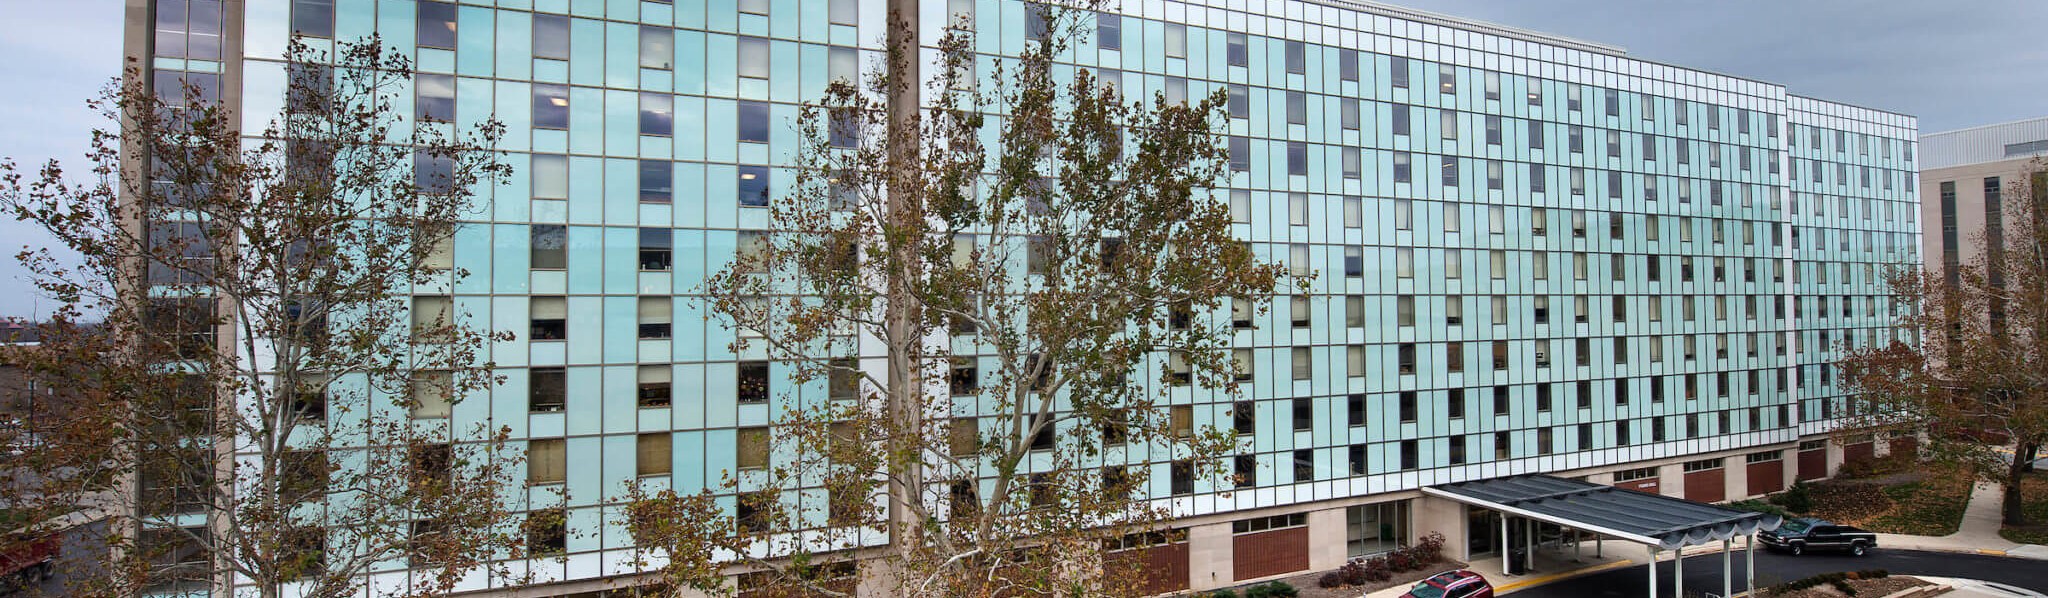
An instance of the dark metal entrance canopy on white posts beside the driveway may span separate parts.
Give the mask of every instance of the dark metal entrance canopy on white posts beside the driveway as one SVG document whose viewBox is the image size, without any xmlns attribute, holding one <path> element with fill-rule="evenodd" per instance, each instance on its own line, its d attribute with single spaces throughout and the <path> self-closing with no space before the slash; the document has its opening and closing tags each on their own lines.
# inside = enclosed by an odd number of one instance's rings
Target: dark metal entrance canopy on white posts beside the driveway
<svg viewBox="0 0 2048 598">
<path fill-rule="evenodd" d="M 1540 520 L 1647 545 L 1651 559 L 1649 596 L 1653 598 L 1659 596 L 1659 553 L 1673 551 L 1673 567 L 1677 567 L 1677 575 L 1673 575 L 1677 578 L 1675 596 L 1686 596 L 1686 559 L 1681 551 L 1708 543 L 1720 543 L 1720 588 L 1722 596 L 1733 594 L 1733 563 L 1729 555 L 1737 537 L 1745 539 L 1743 547 L 1749 553 L 1747 586 L 1755 594 L 1755 532 L 1776 530 L 1784 524 L 1784 518 L 1776 514 L 1733 510 L 1542 473 L 1460 481 L 1423 487 L 1421 492 L 1513 514 L 1524 518 L 1524 524 Z M 1501 518 L 1501 539 L 1503 543 L 1507 539 L 1507 518 Z"/>
</svg>

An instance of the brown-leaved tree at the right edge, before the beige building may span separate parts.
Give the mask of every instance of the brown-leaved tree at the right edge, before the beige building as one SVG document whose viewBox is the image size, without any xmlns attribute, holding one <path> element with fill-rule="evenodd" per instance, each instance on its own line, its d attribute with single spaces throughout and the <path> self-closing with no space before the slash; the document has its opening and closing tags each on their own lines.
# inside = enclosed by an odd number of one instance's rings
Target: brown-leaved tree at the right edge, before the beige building
<svg viewBox="0 0 2048 598">
<path fill-rule="evenodd" d="M 1847 383 L 1864 397 L 1851 428 L 1927 428 L 1933 459 L 2005 483 L 2005 524 L 2025 524 L 2021 475 L 2048 442 L 2048 164 L 2036 160 L 1991 205 L 2001 225 L 1954 272 L 1890 281 L 1901 332 L 1849 350 Z M 2011 453 L 2007 453 L 2011 451 Z"/>
</svg>

